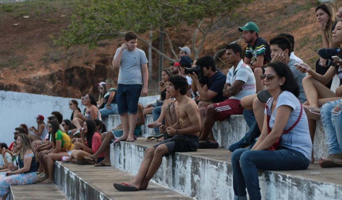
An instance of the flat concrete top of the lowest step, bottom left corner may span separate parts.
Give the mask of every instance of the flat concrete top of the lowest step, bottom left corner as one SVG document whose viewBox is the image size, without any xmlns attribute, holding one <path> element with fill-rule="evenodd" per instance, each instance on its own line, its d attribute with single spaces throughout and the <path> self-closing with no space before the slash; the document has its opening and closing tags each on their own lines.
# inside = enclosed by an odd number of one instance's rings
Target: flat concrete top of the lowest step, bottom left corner
<svg viewBox="0 0 342 200">
<path fill-rule="evenodd" d="M 56 184 L 12 185 L 10 200 L 68 200 Z"/>
</svg>

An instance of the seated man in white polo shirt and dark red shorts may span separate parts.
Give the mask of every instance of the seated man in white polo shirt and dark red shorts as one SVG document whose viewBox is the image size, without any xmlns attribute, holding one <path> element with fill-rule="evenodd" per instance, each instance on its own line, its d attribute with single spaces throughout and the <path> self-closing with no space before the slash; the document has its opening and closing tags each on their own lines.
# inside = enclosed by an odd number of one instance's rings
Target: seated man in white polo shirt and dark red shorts
<svg viewBox="0 0 342 200">
<path fill-rule="evenodd" d="M 255 77 L 252 69 L 241 59 L 242 49 L 237 43 L 226 47 L 225 58 L 233 67 L 227 73 L 223 87 L 223 96 L 228 97 L 223 102 L 208 106 L 202 122 L 199 148 L 217 148 L 219 145 L 212 134 L 212 126 L 216 120 L 225 120 L 231 115 L 242 115 L 244 108 L 240 101 L 247 95 L 255 94 Z M 201 116 L 201 119 L 202 116 Z"/>
</svg>

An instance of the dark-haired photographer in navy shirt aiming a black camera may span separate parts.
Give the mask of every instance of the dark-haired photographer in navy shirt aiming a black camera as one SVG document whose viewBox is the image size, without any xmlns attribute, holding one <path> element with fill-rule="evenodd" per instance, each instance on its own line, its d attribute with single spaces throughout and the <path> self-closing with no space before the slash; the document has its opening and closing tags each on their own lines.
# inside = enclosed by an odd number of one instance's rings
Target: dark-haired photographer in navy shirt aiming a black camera
<svg viewBox="0 0 342 200">
<path fill-rule="evenodd" d="M 224 101 L 222 90 L 227 76 L 216 70 L 213 57 L 201 57 L 196 62 L 196 67 L 186 69 L 192 79 L 191 89 L 199 93 L 201 101 L 198 108 L 206 107 L 212 103 Z"/>
</svg>

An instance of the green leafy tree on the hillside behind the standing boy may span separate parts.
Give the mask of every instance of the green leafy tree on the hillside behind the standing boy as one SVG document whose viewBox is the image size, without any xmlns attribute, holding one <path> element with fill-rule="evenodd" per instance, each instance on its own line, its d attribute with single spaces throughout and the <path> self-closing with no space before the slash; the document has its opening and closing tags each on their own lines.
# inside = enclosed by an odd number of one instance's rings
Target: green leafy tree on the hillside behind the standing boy
<svg viewBox="0 0 342 200">
<path fill-rule="evenodd" d="M 77 12 L 71 24 L 55 42 L 70 47 L 76 44 L 90 44 L 96 41 L 114 38 L 124 31 L 133 30 L 144 33 L 147 30 L 159 31 L 163 27 L 172 51 L 172 57 L 162 54 L 157 48 L 154 51 L 170 61 L 177 59 L 172 41 L 167 32 L 168 28 L 186 23 L 194 29 L 192 51 L 197 58 L 199 51 L 212 27 L 233 9 L 252 0 L 78 0 Z M 203 19 L 209 23 L 203 23 Z M 202 34 L 200 43 L 196 47 L 198 32 Z"/>
</svg>

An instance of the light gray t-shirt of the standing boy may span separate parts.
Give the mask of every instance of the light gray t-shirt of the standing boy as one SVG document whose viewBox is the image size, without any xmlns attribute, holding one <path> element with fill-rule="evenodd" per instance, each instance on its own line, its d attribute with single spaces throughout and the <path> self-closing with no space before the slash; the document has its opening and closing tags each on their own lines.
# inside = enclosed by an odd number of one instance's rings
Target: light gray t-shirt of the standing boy
<svg viewBox="0 0 342 200">
<path fill-rule="evenodd" d="M 120 51 L 119 47 L 116 49 L 114 58 Z M 139 48 L 135 48 L 133 51 L 128 51 L 127 48 L 123 50 L 120 68 L 118 84 L 133 85 L 143 84 L 143 77 L 141 73 L 141 65 L 147 63 L 145 52 Z"/>
</svg>

